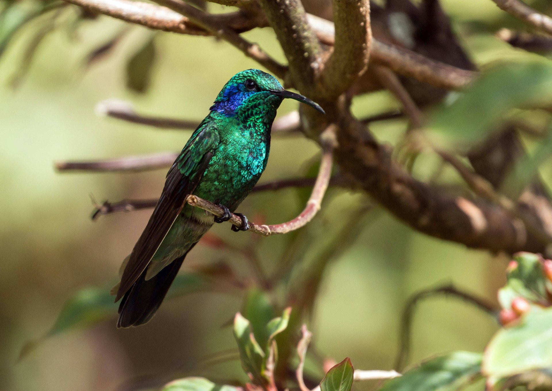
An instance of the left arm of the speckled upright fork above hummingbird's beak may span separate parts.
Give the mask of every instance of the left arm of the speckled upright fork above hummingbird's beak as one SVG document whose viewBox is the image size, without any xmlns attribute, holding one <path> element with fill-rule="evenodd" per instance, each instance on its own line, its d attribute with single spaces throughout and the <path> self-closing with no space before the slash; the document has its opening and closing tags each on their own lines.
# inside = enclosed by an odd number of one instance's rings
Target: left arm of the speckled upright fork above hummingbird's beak
<svg viewBox="0 0 552 391">
<path fill-rule="evenodd" d="M 321 47 L 300 0 L 259 0 L 289 62 L 295 88 L 310 94 L 319 71 Z"/>
</svg>

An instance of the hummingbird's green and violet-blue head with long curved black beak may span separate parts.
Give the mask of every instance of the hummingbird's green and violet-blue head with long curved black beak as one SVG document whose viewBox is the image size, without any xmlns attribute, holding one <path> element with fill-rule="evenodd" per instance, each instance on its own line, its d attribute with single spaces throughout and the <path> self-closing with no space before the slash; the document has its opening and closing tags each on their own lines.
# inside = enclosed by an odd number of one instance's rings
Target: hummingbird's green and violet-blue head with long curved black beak
<svg viewBox="0 0 552 391">
<path fill-rule="evenodd" d="M 258 69 L 248 69 L 232 76 L 222 87 L 211 110 L 227 117 L 262 115 L 274 119 L 276 109 L 284 98 L 306 103 L 324 113 L 319 104 L 300 94 L 286 91 L 274 76 Z"/>
</svg>

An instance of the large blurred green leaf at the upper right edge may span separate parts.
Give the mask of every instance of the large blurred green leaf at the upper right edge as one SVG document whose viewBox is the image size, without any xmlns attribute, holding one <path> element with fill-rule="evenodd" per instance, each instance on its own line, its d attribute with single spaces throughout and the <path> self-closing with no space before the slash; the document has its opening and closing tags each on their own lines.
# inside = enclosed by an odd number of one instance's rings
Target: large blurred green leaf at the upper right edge
<svg viewBox="0 0 552 391">
<path fill-rule="evenodd" d="M 509 110 L 552 100 L 552 62 L 517 62 L 485 71 L 464 94 L 428 122 L 433 134 L 452 142 L 485 138 Z"/>
</svg>

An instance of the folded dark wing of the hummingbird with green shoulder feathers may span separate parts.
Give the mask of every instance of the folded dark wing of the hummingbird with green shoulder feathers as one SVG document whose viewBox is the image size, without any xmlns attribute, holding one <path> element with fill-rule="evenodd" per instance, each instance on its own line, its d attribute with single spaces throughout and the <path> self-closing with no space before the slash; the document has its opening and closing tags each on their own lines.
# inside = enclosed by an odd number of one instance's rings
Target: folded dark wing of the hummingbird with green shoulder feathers
<svg viewBox="0 0 552 391">
<path fill-rule="evenodd" d="M 219 131 L 216 126 L 205 119 L 174 161 L 167 173 L 163 193 L 153 210 L 150 221 L 147 222 L 144 232 L 132 249 L 121 276 L 115 302 L 123 297 L 147 267 L 181 212 L 186 195 L 192 194 L 203 177 L 219 141 Z"/>
</svg>

